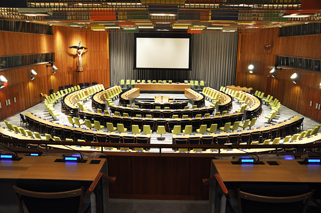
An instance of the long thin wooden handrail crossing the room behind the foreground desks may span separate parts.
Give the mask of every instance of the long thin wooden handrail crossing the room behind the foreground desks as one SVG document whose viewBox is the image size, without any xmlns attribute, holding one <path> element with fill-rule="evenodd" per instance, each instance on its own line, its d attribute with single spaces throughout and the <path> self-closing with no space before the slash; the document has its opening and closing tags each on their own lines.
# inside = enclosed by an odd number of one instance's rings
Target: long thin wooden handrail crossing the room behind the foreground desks
<svg viewBox="0 0 321 213">
<path fill-rule="evenodd" d="M 40 140 L 19 140 L 19 139 L 0 139 L 0 142 L 10 142 L 10 143 L 33 143 L 33 144 L 47 144 L 47 145 L 57 145 L 55 142 L 49 141 L 40 141 Z M 141 144 L 141 143 L 109 143 L 109 142 L 59 142 L 64 145 L 80 145 L 80 146 L 102 146 L 102 147 L 139 147 L 139 148 L 215 148 L 222 149 L 228 148 L 227 145 L 203 145 L 203 144 Z M 312 143 L 302 143 L 302 144 L 257 144 L 257 145 L 233 145 L 237 149 L 258 149 L 258 148 L 271 148 L 271 149 L 280 149 L 280 148 L 321 148 L 321 143 L 312 144 Z M 255 151 L 256 152 L 256 151 Z"/>
</svg>

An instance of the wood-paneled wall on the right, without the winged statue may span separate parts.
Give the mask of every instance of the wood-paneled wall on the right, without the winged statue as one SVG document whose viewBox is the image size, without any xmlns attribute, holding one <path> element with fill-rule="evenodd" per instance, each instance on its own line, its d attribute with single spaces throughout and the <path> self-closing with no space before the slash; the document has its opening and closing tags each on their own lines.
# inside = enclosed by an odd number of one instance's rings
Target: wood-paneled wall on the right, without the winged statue
<svg viewBox="0 0 321 213">
<path fill-rule="evenodd" d="M 276 55 L 321 58 L 321 36 L 278 37 L 279 28 L 265 29 L 251 35 L 239 36 L 236 85 L 252 87 L 277 98 L 282 105 L 305 115 L 309 88 L 318 89 L 321 73 L 282 68 L 272 78 L 271 88 L 267 88 L 268 75 L 276 64 Z M 264 44 L 271 43 L 272 49 L 265 50 Z M 248 66 L 254 66 L 249 73 Z M 298 74 L 297 84 L 290 76 Z"/>
</svg>

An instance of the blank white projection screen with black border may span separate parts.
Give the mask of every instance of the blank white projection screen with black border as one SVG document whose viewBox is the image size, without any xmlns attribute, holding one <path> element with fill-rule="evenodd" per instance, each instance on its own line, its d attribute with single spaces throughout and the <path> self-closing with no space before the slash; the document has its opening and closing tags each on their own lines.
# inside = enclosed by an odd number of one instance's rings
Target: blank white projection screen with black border
<svg viewBox="0 0 321 213">
<path fill-rule="evenodd" d="M 191 36 L 137 34 L 134 55 L 134 70 L 191 70 Z"/>
</svg>

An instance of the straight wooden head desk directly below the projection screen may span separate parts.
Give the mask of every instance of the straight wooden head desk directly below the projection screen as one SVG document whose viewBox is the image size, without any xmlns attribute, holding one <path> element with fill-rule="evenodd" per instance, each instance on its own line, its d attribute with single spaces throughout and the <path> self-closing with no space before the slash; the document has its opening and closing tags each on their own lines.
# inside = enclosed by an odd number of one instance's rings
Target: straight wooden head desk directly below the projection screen
<svg viewBox="0 0 321 213">
<path fill-rule="evenodd" d="M 141 91 L 184 91 L 190 84 L 176 83 L 135 83 L 135 88 Z"/>
</svg>

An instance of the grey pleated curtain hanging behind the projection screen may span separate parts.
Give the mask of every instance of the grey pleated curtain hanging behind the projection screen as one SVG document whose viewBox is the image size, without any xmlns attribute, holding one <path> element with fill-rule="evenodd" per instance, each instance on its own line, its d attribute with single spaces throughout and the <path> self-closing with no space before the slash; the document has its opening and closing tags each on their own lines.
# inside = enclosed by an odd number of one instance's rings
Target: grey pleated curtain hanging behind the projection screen
<svg viewBox="0 0 321 213">
<path fill-rule="evenodd" d="M 133 70 L 134 34 L 110 33 L 109 42 L 111 85 L 120 79 L 204 80 L 215 88 L 235 84 L 237 34 L 193 34 L 192 71 Z"/>
</svg>

